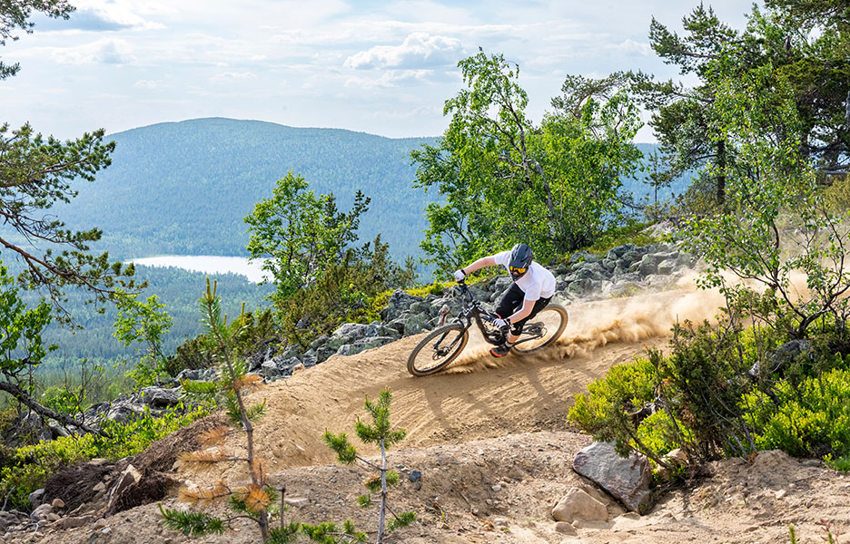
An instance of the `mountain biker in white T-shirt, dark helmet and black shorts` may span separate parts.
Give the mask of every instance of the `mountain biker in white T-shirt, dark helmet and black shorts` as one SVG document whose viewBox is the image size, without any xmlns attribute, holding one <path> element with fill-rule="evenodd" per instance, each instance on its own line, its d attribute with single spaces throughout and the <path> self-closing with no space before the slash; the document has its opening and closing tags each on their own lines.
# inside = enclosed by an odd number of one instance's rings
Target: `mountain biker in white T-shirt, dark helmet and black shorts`
<svg viewBox="0 0 850 544">
<path fill-rule="evenodd" d="M 508 355 L 522 332 L 522 325 L 546 307 L 555 294 L 555 277 L 546 268 L 532 262 L 533 257 L 527 244 L 517 244 L 510 251 L 481 257 L 454 273 L 458 282 L 483 267 L 499 265 L 510 273 L 513 283 L 499 298 L 499 306 L 496 307 L 499 319 L 493 322 L 499 328 L 509 327 L 508 337 L 504 343 L 490 349 L 490 355 L 494 357 Z"/>
</svg>

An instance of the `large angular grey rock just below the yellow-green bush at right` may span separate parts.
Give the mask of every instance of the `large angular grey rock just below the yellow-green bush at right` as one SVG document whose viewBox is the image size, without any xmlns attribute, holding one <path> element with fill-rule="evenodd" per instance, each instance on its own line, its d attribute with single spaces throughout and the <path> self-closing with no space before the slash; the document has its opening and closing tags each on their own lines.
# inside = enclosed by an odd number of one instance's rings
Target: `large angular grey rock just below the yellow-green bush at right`
<svg viewBox="0 0 850 544">
<path fill-rule="evenodd" d="M 621 500 L 628 510 L 646 512 L 650 506 L 652 469 L 643 455 L 622 458 L 610 442 L 593 442 L 576 454 L 573 469 Z"/>
</svg>

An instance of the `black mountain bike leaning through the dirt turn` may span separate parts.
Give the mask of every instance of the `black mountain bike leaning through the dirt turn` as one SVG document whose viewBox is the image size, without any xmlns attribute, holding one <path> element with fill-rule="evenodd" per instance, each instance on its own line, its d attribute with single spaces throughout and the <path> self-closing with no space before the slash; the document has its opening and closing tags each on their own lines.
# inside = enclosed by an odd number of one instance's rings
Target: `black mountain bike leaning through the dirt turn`
<svg viewBox="0 0 850 544">
<path fill-rule="evenodd" d="M 505 341 L 507 329 L 493 325 L 499 318 L 489 312 L 475 300 L 466 282 L 459 282 L 461 309 L 453 323 L 445 324 L 449 314 L 449 306 L 440 309 L 440 326 L 422 338 L 413 348 L 408 357 L 408 372 L 414 376 L 436 374 L 454 361 L 469 341 L 469 327 L 472 323 L 478 325 L 481 335 L 489 344 L 500 345 Z M 564 332 L 567 326 L 567 308 L 559 304 L 549 303 L 541 309 L 534 321 L 526 322 L 522 327 L 519 340 L 514 344 L 510 353 L 527 355 L 548 345 L 552 345 Z"/>
</svg>

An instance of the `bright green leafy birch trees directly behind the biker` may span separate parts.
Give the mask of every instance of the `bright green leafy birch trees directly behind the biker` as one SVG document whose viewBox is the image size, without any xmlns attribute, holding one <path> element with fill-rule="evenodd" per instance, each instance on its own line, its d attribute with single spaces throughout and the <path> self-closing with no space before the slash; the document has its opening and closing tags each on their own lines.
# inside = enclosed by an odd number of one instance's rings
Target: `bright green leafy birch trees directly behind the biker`
<svg viewBox="0 0 850 544">
<path fill-rule="evenodd" d="M 518 66 L 483 51 L 459 66 L 466 88 L 446 101 L 449 129 L 436 147 L 411 153 L 415 185 L 441 197 L 425 211 L 428 262 L 445 272 L 518 241 L 546 261 L 618 224 L 622 178 L 641 157 L 622 74 L 569 77 L 555 111 L 535 126 Z"/>
</svg>

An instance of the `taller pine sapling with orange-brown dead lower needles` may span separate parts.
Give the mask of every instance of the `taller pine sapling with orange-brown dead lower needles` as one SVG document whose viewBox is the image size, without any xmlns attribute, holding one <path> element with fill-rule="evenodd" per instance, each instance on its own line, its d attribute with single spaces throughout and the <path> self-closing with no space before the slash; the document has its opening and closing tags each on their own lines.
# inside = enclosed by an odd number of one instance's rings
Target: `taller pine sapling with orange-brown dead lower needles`
<svg viewBox="0 0 850 544">
<path fill-rule="evenodd" d="M 203 397 L 220 399 L 226 407 L 226 413 L 233 427 L 242 427 L 247 438 L 244 456 L 227 454 L 221 448 L 201 452 L 183 453 L 180 457 L 184 462 L 245 462 L 251 474 L 251 483 L 239 488 L 231 488 L 225 482 L 219 482 L 209 489 L 182 489 L 180 499 L 190 503 L 208 503 L 213 500 L 228 500 L 235 514 L 228 519 L 216 518 L 201 512 L 184 512 L 181 510 L 163 509 L 163 524 L 169 529 L 183 531 L 185 535 L 201 536 L 204 534 L 222 534 L 228 524 L 235 519 L 254 521 L 260 529 L 262 542 L 270 544 L 285 544 L 294 542 L 300 530 L 298 523 L 283 524 L 283 497 L 285 488 L 281 489 L 281 525 L 270 528 L 269 519 L 277 510 L 278 492 L 265 479 L 262 461 L 254 451 L 252 422 L 262 417 L 265 402 L 249 405 L 245 402 L 246 393 L 261 384 L 256 374 L 248 374 L 244 359 L 238 355 L 234 345 L 238 343 L 245 329 L 245 312 L 242 304 L 242 314 L 231 325 L 227 324 L 227 316 L 222 316 L 221 298 L 216 296 L 216 284 L 210 287 L 207 278 L 207 288 L 201 297 L 203 325 L 213 338 L 213 359 L 218 369 L 218 379 L 215 382 L 193 382 L 183 380 L 181 385 L 187 393 Z M 204 447 L 221 446 L 229 433 L 227 427 L 213 429 L 202 437 Z"/>
</svg>

